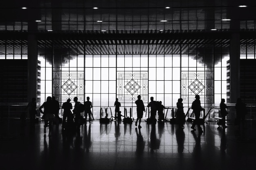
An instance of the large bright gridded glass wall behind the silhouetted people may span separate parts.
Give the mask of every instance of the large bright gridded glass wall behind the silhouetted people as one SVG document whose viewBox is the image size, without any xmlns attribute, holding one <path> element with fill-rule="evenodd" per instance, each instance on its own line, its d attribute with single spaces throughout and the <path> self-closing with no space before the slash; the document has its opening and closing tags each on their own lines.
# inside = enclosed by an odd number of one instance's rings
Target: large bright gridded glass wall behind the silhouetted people
<svg viewBox="0 0 256 170">
<path fill-rule="evenodd" d="M 118 98 L 121 112 L 132 108 L 136 118 L 137 95 L 145 106 L 150 97 L 166 107 L 175 107 L 183 98 L 185 112 L 200 95 L 208 110 L 227 97 L 229 53 L 221 46 L 225 44 L 39 43 L 41 102 L 48 95 L 61 104 L 76 96 L 79 102 L 90 97 L 94 118 L 99 119 L 101 107 L 108 107 L 109 114 L 111 108 L 114 115 Z"/>
</svg>

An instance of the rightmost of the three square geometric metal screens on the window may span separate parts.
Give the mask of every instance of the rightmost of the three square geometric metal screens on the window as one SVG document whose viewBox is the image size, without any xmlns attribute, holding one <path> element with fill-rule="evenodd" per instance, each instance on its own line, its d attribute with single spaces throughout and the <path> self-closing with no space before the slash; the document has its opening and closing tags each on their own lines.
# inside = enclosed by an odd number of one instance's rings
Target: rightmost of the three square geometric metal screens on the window
<svg viewBox="0 0 256 170">
<path fill-rule="evenodd" d="M 205 103 L 214 103 L 213 71 L 182 71 L 181 97 L 183 102 L 191 103 L 195 95 Z"/>
</svg>

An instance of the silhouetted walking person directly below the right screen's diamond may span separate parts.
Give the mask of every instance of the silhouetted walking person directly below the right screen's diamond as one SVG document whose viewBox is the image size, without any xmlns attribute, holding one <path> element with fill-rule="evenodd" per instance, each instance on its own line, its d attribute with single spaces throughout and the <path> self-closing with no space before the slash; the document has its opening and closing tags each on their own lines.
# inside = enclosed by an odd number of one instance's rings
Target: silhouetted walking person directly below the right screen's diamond
<svg viewBox="0 0 256 170">
<path fill-rule="evenodd" d="M 195 120 L 193 121 L 191 129 L 195 130 L 195 125 L 197 125 L 199 132 L 203 132 L 203 130 L 200 126 L 200 114 L 201 114 L 201 111 L 204 109 L 201 106 L 199 95 L 195 95 L 195 100 L 193 101 L 191 108 L 193 109 L 194 114 L 195 114 Z"/>
</svg>

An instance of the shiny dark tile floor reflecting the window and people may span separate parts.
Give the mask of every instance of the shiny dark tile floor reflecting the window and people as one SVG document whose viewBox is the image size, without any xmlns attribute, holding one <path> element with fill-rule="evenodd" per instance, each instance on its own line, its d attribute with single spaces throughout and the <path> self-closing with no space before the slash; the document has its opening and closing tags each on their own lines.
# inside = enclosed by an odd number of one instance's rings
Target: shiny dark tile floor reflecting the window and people
<svg viewBox="0 0 256 170">
<path fill-rule="evenodd" d="M 191 132 L 165 122 L 83 125 L 79 132 L 43 122 L 0 120 L 0 170 L 256 170 L 256 122 L 244 130 L 228 122 Z"/>
</svg>

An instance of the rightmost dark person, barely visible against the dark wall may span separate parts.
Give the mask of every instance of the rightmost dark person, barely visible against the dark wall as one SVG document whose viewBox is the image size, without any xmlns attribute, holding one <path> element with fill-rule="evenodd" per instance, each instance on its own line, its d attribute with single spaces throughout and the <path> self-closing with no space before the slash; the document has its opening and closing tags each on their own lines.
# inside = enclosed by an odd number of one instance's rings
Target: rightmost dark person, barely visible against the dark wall
<svg viewBox="0 0 256 170">
<path fill-rule="evenodd" d="M 242 128 L 245 128 L 245 115 L 247 113 L 246 104 L 242 102 L 241 98 L 237 99 L 236 102 L 236 119 L 238 123 L 238 128 L 240 129 L 240 124 L 242 123 Z"/>
</svg>

